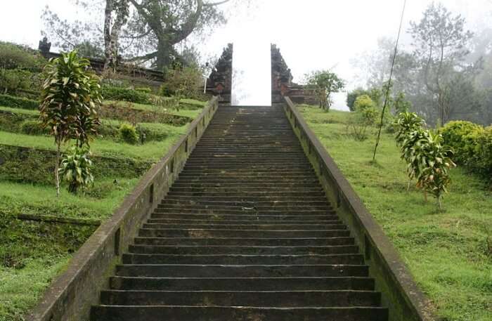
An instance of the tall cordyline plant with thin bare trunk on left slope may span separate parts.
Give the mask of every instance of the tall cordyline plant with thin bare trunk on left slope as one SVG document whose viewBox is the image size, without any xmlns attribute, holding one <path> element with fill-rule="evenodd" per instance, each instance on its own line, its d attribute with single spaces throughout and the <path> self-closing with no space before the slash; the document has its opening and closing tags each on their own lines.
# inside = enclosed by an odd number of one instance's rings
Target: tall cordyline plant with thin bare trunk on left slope
<svg viewBox="0 0 492 321">
<path fill-rule="evenodd" d="M 55 138 L 57 196 L 60 195 L 58 168 L 61 144 L 75 139 L 79 148 L 89 146 L 89 138 L 97 133 L 97 109 L 103 97 L 99 79 L 89 71 L 89 66 L 89 60 L 79 58 L 77 51 L 72 51 L 50 60 L 44 68 L 39 111 L 42 124 Z"/>
</svg>

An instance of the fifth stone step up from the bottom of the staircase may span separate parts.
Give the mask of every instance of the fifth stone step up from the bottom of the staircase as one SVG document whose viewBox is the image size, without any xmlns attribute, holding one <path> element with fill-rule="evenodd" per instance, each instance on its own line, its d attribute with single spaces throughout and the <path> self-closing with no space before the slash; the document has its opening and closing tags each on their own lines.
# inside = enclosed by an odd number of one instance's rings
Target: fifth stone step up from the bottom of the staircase
<svg viewBox="0 0 492 321">
<path fill-rule="evenodd" d="M 221 265 L 295 265 L 362 264 L 361 254 L 136 254 L 124 253 L 124 264 L 221 264 Z"/>
</svg>

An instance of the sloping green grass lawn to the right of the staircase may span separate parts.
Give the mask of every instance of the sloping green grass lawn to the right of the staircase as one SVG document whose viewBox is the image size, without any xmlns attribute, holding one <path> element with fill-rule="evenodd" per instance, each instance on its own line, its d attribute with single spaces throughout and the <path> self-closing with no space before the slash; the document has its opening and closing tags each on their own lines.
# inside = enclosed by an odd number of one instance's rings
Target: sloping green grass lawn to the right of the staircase
<svg viewBox="0 0 492 321">
<path fill-rule="evenodd" d="M 466 169 L 451 172 L 444 211 L 425 202 L 412 184 L 391 134 L 373 157 L 375 129 L 367 140 L 349 135 L 349 112 L 299 106 L 304 119 L 382 225 L 415 281 L 446 321 L 492 320 L 492 191 Z M 492 240 L 491 240 L 492 241 Z"/>
</svg>

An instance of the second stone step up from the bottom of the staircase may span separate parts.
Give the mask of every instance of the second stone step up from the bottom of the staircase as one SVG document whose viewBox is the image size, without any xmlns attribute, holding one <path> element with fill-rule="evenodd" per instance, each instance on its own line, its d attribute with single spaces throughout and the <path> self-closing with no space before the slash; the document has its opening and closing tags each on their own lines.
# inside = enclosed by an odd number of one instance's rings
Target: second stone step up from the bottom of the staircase
<svg viewBox="0 0 492 321">
<path fill-rule="evenodd" d="M 379 306 L 375 291 L 120 291 L 101 292 L 113 306 Z"/>
</svg>

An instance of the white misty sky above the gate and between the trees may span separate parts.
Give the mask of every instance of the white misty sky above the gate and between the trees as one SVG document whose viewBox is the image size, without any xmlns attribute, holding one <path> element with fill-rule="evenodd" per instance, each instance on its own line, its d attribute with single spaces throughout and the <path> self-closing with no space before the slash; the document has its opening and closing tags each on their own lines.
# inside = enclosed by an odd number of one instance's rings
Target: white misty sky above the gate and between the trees
<svg viewBox="0 0 492 321">
<path fill-rule="evenodd" d="M 78 15 L 69 0 L 2 2 L 0 40 L 30 46 L 37 46 L 40 39 L 40 15 L 46 4 L 69 20 Z M 403 30 L 408 29 L 410 20 L 420 19 L 431 2 L 408 0 Z M 472 31 L 477 24 L 492 25 L 491 0 L 441 2 L 451 11 L 464 15 Z M 254 51 L 255 44 L 273 42 L 292 69 L 294 81 L 301 81 L 311 70 L 332 68 L 347 80 L 349 89 L 357 85 L 358 72 L 351 62 L 375 48 L 379 37 L 396 38 L 403 6 L 403 0 L 253 0 L 253 3 L 247 12 L 228 8 L 231 12 L 228 24 L 200 44 L 203 55 L 219 55 L 228 42 L 248 43 L 241 46 L 245 51 Z M 403 35 L 403 45 L 408 41 Z M 247 62 L 254 64 L 254 59 Z M 335 106 L 343 107 L 343 100 L 344 94 L 337 96 Z"/>
</svg>

